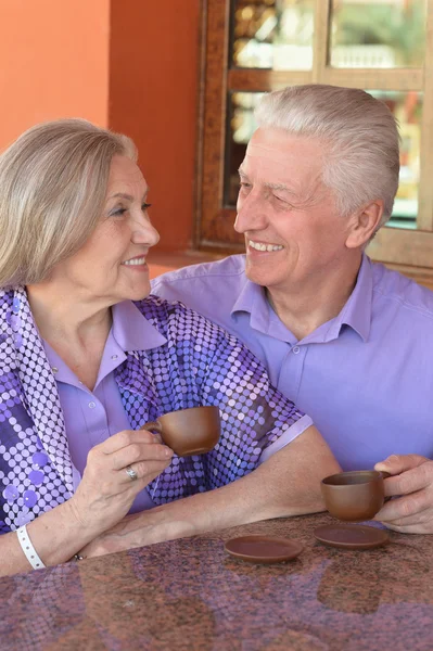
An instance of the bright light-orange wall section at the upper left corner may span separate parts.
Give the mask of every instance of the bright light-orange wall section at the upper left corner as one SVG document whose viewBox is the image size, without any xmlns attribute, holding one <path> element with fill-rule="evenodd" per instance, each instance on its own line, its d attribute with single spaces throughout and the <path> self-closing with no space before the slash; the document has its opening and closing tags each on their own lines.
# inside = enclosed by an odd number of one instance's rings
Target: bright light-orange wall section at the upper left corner
<svg viewBox="0 0 433 651">
<path fill-rule="evenodd" d="M 56 117 L 107 124 L 110 0 L 0 1 L 0 149 Z"/>
</svg>

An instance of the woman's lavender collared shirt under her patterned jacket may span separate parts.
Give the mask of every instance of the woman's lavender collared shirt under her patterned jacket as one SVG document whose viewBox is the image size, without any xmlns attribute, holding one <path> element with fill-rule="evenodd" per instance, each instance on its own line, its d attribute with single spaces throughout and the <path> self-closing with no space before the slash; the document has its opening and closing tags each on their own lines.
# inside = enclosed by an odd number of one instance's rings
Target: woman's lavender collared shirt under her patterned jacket
<svg viewBox="0 0 433 651">
<path fill-rule="evenodd" d="M 126 360 L 126 350 L 147 350 L 161 346 L 166 340 L 128 301 L 114 305 L 113 326 L 106 340 L 101 366 L 93 391 L 85 386 L 43 341 L 48 360 L 54 371 L 69 451 L 74 463 L 76 489 L 91 448 L 122 430 L 130 430 L 120 394 L 114 379 L 114 369 Z M 153 507 L 144 488 L 136 497 L 131 513 Z"/>
</svg>

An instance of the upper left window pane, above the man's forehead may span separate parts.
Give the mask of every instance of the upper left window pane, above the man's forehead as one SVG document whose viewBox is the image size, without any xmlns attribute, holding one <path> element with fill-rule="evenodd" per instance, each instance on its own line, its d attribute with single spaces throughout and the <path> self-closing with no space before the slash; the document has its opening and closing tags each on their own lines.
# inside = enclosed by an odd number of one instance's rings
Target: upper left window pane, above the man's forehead
<svg viewBox="0 0 433 651">
<path fill-rule="evenodd" d="M 315 0 L 234 0 L 233 65 L 311 69 L 314 5 Z"/>
</svg>

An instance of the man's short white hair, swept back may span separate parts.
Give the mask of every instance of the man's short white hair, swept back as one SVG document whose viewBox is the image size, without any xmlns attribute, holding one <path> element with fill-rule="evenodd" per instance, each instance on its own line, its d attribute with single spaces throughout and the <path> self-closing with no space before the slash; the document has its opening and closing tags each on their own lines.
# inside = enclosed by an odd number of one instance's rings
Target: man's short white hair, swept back
<svg viewBox="0 0 433 651">
<path fill-rule="evenodd" d="M 255 111 L 262 128 L 323 142 L 323 183 L 348 216 L 374 200 L 384 204 L 383 226 L 398 188 L 399 135 L 387 106 L 357 88 L 310 84 L 265 94 Z"/>
</svg>

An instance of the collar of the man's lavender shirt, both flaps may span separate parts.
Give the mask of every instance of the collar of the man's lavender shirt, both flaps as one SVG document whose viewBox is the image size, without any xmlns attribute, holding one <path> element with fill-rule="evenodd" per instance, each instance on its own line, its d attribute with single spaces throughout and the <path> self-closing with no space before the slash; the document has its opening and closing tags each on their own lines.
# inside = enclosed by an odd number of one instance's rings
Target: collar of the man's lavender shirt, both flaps
<svg viewBox="0 0 433 651">
<path fill-rule="evenodd" d="M 320 330 L 320 341 L 336 339 L 343 326 L 349 326 L 364 342 L 368 341 L 371 324 L 372 285 L 371 261 L 364 254 L 355 288 L 340 314 L 328 322 L 327 328 L 323 324 L 318 329 Z M 234 316 L 241 311 L 251 315 L 250 323 L 254 330 L 283 341 L 290 341 L 293 336 L 270 307 L 265 289 L 251 280 L 246 280 L 242 288 L 231 309 L 231 315 Z M 282 328 L 285 329 L 289 336 L 283 335 Z M 319 333 L 317 332 L 317 334 Z M 306 339 L 313 341 L 314 333 Z"/>
</svg>

